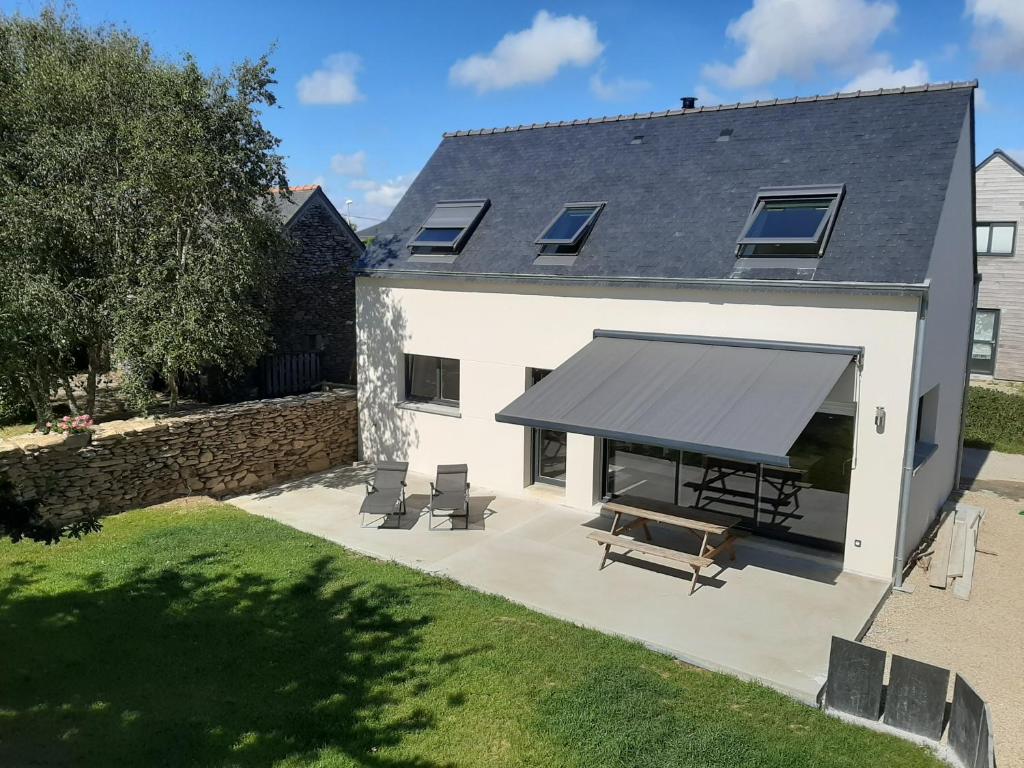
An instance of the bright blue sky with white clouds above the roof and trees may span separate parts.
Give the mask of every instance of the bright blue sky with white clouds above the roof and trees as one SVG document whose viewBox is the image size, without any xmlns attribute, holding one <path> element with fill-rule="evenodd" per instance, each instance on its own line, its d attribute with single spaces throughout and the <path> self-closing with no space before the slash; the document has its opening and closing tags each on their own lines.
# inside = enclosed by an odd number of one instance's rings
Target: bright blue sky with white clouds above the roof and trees
<svg viewBox="0 0 1024 768">
<path fill-rule="evenodd" d="M 38 0 L 0 0 L 38 12 Z M 480 3 L 82 0 L 157 51 L 227 68 L 275 46 L 293 184 L 357 226 L 386 216 L 445 130 L 978 78 L 978 159 L 1024 156 L 1024 0 Z"/>
</svg>

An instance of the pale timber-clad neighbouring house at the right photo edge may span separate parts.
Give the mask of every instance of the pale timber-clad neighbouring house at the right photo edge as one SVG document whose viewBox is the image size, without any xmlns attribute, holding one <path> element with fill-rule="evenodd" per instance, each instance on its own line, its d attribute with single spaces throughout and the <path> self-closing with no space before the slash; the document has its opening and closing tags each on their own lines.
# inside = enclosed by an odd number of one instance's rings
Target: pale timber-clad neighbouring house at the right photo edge
<svg viewBox="0 0 1024 768">
<path fill-rule="evenodd" d="M 971 373 L 1024 381 L 1024 167 L 996 150 L 975 171 L 978 308 Z"/>
</svg>

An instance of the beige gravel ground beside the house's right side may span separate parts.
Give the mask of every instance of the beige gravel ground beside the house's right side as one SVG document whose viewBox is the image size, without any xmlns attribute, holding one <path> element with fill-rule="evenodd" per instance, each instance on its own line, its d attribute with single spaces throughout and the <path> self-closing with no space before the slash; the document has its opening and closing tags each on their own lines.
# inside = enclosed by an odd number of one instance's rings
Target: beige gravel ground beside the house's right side
<svg viewBox="0 0 1024 768">
<path fill-rule="evenodd" d="M 916 567 L 913 592 L 892 593 L 864 642 L 967 678 L 991 707 L 999 765 L 1024 767 L 1024 503 L 990 492 L 962 501 L 985 510 L 978 547 L 996 553 L 978 553 L 971 599 L 930 587 Z"/>
</svg>

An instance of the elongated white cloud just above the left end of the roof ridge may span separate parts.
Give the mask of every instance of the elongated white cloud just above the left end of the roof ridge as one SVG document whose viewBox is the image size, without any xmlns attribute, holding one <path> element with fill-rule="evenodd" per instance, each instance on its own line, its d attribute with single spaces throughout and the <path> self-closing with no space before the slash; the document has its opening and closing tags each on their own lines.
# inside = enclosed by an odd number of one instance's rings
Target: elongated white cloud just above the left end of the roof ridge
<svg viewBox="0 0 1024 768">
<path fill-rule="evenodd" d="M 489 53 L 456 61 L 449 78 L 477 93 L 543 83 L 562 67 L 593 63 L 603 50 L 597 25 L 586 16 L 553 16 L 542 10 L 529 29 L 510 32 Z"/>
</svg>

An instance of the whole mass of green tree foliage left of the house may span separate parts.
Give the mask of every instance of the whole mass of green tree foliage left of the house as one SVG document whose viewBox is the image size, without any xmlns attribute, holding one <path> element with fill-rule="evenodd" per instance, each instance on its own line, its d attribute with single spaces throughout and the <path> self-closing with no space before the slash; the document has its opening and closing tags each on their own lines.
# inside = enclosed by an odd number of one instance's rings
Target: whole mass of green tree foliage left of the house
<svg viewBox="0 0 1024 768">
<path fill-rule="evenodd" d="M 82 349 L 88 411 L 108 350 L 172 398 L 262 351 L 287 189 L 260 122 L 272 76 L 266 56 L 208 74 L 68 12 L 0 15 L 0 385 L 38 420 Z"/>
</svg>

